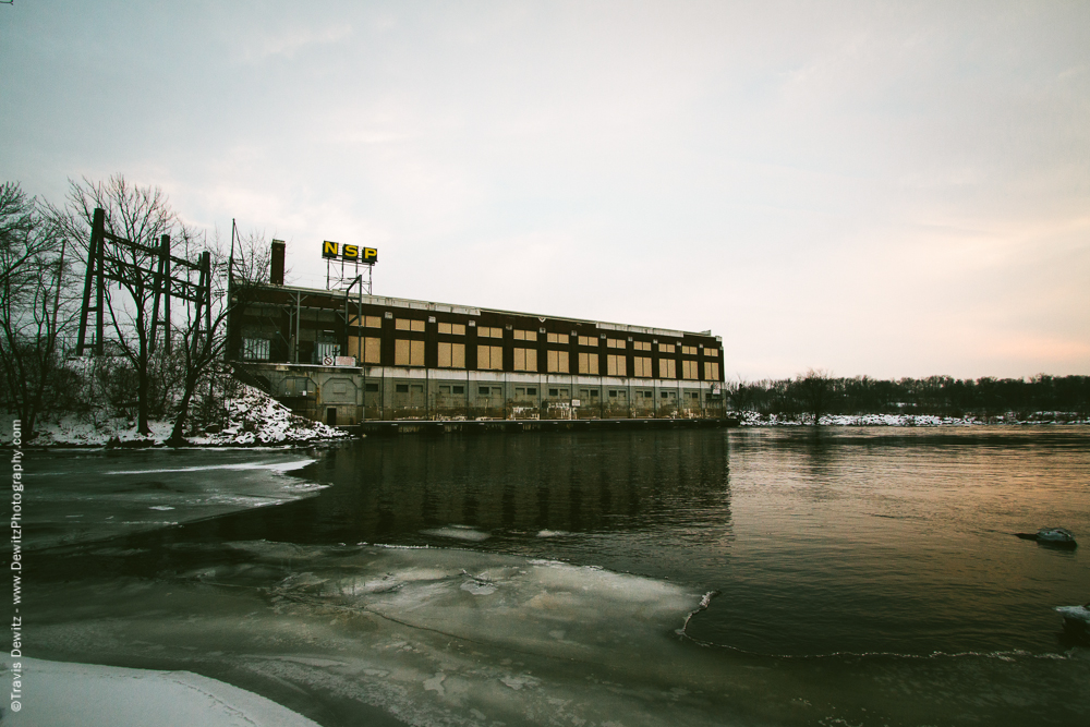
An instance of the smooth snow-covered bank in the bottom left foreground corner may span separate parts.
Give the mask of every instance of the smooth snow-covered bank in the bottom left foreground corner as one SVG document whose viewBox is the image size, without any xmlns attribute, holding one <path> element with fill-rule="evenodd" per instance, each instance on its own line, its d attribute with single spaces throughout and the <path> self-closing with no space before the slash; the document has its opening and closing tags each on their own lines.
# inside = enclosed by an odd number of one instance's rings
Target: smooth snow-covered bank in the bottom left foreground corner
<svg viewBox="0 0 1090 727">
<path fill-rule="evenodd" d="M 271 700 L 190 671 L 19 664 L 25 696 L 19 712 L 3 715 L 12 727 L 318 727 Z"/>
</svg>

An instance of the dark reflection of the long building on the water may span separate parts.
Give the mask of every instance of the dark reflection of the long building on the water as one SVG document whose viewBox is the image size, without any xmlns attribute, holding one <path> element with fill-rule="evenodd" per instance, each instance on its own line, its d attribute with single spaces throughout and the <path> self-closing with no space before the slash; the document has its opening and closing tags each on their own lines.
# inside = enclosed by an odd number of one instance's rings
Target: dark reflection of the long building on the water
<svg viewBox="0 0 1090 727">
<path fill-rule="evenodd" d="M 725 433 L 368 438 L 303 474 L 318 497 L 191 525 L 186 537 L 427 543 L 450 524 L 496 536 L 669 523 L 730 531 Z"/>
</svg>

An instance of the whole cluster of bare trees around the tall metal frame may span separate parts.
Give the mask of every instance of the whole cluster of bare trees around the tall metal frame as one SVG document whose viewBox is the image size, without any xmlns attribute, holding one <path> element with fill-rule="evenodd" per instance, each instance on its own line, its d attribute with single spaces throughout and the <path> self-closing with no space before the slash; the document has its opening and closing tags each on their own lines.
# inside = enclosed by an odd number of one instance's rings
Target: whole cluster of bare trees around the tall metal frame
<svg viewBox="0 0 1090 727">
<path fill-rule="evenodd" d="M 96 208 L 110 235 L 136 244 L 106 242 L 104 269 L 125 275 L 105 286 L 104 355 L 82 358 L 74 342 Z M 165 282 L 150 270 L 164 235 L 173 255 L 209 255 L 211 305 L 201 319 L 177 298 L 169 326 L 155 315 Z M 62 204 L 28 196 L 17 182 L 0 184 L 0 410 L 21 420 L 27 440 L 44 416 L 73 414 L 92 425 L 128 417 L 141 435 L 168 420 L 171 441 L 184 443 L 193 402 L 215 404 L 196 395 L 211 391 L 222 373 L 227 318 L 249 287 L 268 279 L 268 265 L 264 235 L 237 239 L 232 230 L 228 247 L 217 233 L 185 225 L 162 190 L 121 174 L 70 180 Z"/>
</svg>

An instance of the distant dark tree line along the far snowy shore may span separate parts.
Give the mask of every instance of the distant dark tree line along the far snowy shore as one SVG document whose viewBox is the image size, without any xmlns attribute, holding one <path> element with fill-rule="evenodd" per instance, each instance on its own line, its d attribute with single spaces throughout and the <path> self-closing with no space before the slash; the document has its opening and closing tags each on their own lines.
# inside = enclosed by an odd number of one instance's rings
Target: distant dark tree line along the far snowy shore
<svg viewBox="0 0 1090 727">
<path fill-rule="evenodd" d="M 1086 419 L 1090 376 L 876 379 L 810 369 L 795 378 L 727 384 L 736 411 L 813 421 L 824 414 L 930 414 L 1031 420 L 1041 413 Z"/>
</svg>

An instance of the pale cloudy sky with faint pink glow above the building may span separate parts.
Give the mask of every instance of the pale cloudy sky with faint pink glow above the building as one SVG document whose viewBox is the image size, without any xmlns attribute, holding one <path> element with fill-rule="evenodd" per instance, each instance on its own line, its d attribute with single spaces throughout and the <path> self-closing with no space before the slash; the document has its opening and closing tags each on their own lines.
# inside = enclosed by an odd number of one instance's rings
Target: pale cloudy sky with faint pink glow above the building
<svg viewBox="0 0 1090 727">
<path fill-rule="evenodd" d="M 0 4 L 0 181 L 728 379 L 1090 374 L 1090 2 Z"/>
</svg>

